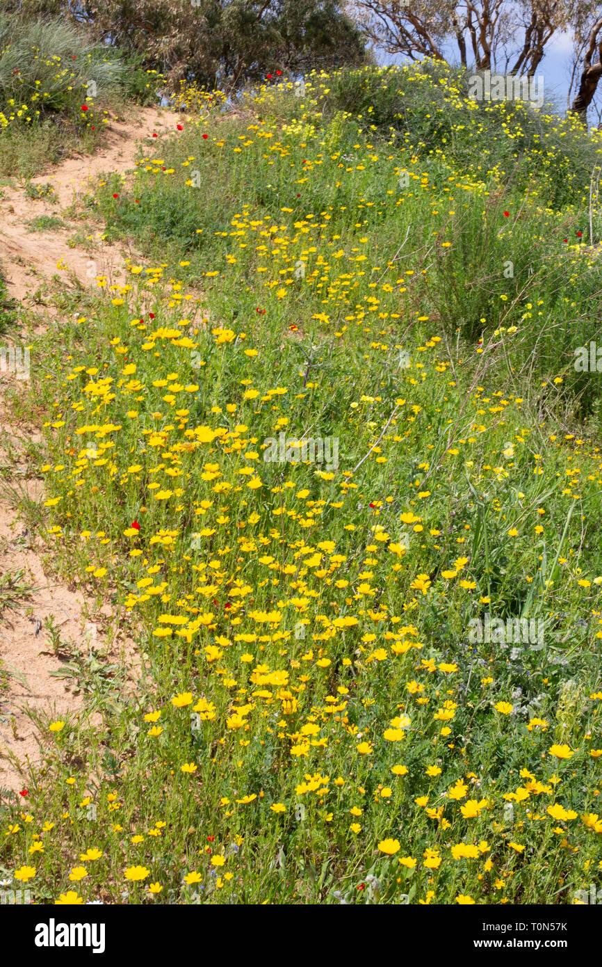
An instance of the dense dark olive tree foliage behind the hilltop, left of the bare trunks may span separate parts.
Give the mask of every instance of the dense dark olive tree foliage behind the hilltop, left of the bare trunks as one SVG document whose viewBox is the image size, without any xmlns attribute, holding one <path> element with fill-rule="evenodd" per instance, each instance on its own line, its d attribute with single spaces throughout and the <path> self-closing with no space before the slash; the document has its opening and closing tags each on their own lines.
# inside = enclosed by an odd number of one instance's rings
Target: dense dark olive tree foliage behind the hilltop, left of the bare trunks
<svg viewBox="0 0 602 967">
<path fill-rule="evenodd" d="M 266 73 L 300 73 L 365 60 L 358 27 L 339 0 L 3 0 L 25 15 L 82 22 L 166 75 L 210 89 L 240 87 Z"/>
</svg>

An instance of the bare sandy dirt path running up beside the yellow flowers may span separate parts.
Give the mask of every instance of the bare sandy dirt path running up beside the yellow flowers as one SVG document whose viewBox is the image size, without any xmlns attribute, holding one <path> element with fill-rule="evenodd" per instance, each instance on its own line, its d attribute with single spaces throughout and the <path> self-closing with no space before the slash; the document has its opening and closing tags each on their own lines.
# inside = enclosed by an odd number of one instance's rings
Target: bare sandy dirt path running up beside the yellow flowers
<svg viewBox="0 0 602 967">
<path fill-rule="evenodd" d="M 63 286 L 96 285 L 97 275 L 110 281 L 123 275 L 124 257 L 133 252 L 126 246 L 98 243 L 93 251 L 72 248 L 68 241 L 74 231 L 81 231 L 81 221 L 66 210 L 100 173 L 129 171 L 138 144 L 157 144 L 153 134 L 160 138 L 174 131 L 175 124 L 172 112 L 156 108 L 140 109 L 131 122 L 112 122 L 98 154 L 66 159 L 32 180 L 34 185 L 52 186 L 54 203 L 29 197 L 24 188 L 3 189 L 0 262 L 9 295 L 19 304 L 21 322 L 37 317 L 42 324 L 36 292 L 57 275 L 58 262 L 70 270 L 61 272 Z M 27 223 L 40 216 L 64 224 L 28 231 Z M 5 346 L 18 343 L 18 330 L 0 341 Z M 28 448 L 40 443 L 42 436 L 35 426 L 11 422 L 7 394 L 15 382 L 14 373 L 0 371 L 0 798 L 2 788 L 21 791 L 25 781 L 21 767 L 41 758 L 36 726 L 27 710 L 56 719 L 76 716 L 81 708 L 80 695 L 67 690 L 66 680 L 53 674 L 64 668 L 67 659 L 47 645 L 48 619 L 63 641 L 70 640 L 84 651 L 90 645 L 98 647 L 108 660 L 124 656 L 132 678 L 139 668 L 131 640 L 117 634 L 110 645 L 107 641 L 104 630 L 110 627 L 110 608 L 96 608 L 74 585 L 48 575 L 43 566 L 47 549 L 19 519 L 14 488 L 32 500 L 43 499 L 43 484 L 30 474 L 27 462 Z M 28 587 L 33 590 L 28 592 Z"/>
</svg>

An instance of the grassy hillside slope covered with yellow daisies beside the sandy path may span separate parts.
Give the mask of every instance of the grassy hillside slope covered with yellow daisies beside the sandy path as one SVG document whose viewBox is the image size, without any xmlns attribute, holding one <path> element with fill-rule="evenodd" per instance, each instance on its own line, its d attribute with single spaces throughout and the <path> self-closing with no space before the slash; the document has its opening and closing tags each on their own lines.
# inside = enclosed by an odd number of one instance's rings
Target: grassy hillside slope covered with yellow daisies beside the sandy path
<svg viewBox="0 0 602 967">
<path fill-rule="evenodd" d="M 587 184 L 572 149 L 557 207 L 543 148 L 529 189 L 495 159 L 463 171 L 454 124 L 434 166 L 384 108 L 374 130 L 322 110 L 352 81 L 206 111 L 89 198 L 154 264 L 36 340 L 40 511 L 143 672 L 124 690 L 97 645 L 70 672 L 84 713 L 37 716 L 34 819 L 2 863 L 34 870 L 38 901 L 564 904 L 599 885 Z M 338 460 L 267 460 L 282 432 Z M 541 622 L 543 648 L 479 641 L 487 613 Z"/>
</svg>

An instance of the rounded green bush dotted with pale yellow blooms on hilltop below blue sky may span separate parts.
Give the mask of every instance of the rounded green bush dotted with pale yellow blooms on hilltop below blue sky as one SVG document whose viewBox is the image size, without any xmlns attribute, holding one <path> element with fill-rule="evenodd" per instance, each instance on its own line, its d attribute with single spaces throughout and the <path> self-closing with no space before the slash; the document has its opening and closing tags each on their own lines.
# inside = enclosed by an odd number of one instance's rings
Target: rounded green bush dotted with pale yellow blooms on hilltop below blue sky
<svg viewBox="0 0 602 967">
<path fill-rule="evenodd" d="M 596 132 L 588 136 L 574 116 L 560 118 L 551 103 L 472 100 L 469 76 L 433 61 L 342 71 L 330 78 L 319 106 L 327 115 L 343 109 L 394 143 L 416 145 L 431 163 L 444 157 L 467 177 L 492 172 L 518 191 L 537 182 L 544 205 L 567 205 L 588 188 L 599 161 Z"/>
</svg>

